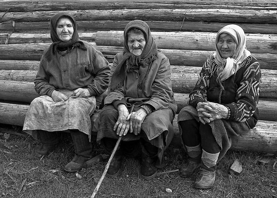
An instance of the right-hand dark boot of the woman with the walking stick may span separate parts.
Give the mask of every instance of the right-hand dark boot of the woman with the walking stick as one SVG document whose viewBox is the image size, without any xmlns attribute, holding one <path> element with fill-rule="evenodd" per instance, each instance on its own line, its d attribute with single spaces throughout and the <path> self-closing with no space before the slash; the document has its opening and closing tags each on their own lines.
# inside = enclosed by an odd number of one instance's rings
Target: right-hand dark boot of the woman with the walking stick
<svg viewBox="0 0 277 198">
<path fill-rule="evenodd" d="M 142 155 L 141 155 L 141 167 L 140 174 L 145 180 L 153 179 L 157 174 L 156 162 L 157 162 L 158 148 L 151 145 L 150 142 L 142 140 Z"/>
</svg>

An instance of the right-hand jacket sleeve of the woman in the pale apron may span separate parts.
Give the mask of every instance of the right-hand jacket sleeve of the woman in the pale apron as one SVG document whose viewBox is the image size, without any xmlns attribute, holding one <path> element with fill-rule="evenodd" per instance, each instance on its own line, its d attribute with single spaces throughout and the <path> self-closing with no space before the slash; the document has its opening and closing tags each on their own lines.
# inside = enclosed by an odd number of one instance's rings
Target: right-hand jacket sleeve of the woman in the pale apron
<svg viewBox="0 0 277 198">
<path fill-rule="evenodd" d="M 93 71 L 92 75 L 94 75 L 93 81 L 87 86 L 87 89 L 90 92 L 90 95 L 101 95 L 104 91 L 106 91 L 108 87 L 108 78 L 110 73 L 110 67 L 108 61 L 105 59 L 103 54 L 96 49 L 91 50 Z"/>
</svg>

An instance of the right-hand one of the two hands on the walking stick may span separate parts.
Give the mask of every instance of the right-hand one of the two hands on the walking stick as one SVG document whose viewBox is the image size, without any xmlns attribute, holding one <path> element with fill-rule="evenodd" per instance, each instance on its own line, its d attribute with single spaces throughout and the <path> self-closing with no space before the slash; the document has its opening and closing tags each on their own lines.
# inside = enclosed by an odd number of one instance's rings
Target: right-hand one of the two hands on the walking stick
<svg viewBox="0 0 277 198">
<path fill-rule="evenodd" d="M 128 116 L 127 120 L 130 120 L 130 133 L 134 133 L 135 135 L 140 133 L 141 124 L 146 116 L 147 112 L 143 108 L 140 108 L 138 111 L 134 111 Z"/>
</svg>

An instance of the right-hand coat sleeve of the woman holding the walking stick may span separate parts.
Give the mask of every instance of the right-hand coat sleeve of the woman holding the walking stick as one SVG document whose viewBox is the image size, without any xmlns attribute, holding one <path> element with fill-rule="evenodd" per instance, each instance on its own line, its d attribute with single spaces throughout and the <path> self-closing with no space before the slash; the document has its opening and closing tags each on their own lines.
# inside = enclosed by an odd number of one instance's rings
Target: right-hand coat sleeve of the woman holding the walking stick
<svg viewBox="0 0 277 198">
<path fill-rule="evenodd" d="M 167 109 L 169 107 L 171 95 L 171 68 L 168 58 L 164 57 L 161 60 L 158 72 L 151 87 L 151 98 L 143 104 L 148 104 L 153 107 L 153 111 Z"/>
</svg>

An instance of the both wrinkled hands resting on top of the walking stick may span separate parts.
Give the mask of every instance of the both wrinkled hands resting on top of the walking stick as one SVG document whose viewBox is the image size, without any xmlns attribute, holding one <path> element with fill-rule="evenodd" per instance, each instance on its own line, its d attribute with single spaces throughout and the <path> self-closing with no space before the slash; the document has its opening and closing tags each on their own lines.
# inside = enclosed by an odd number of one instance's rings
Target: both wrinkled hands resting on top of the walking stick
<svg viewBox="0 0 277 198">
<path fill-rule="evenodd" d="M 145 109 L 140 108 L 138 111 L 134 111 L 129 114 L 127 107 L 124 104 L 119 104 L 118 119 L 114 125 L 114 131 L 119 136 L 126 135 L 128 131 L 138 135 L 141 132 L 141 124 L 147 116 Z"/>
</svg>

